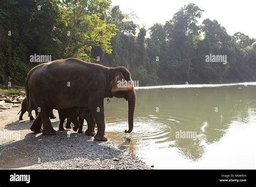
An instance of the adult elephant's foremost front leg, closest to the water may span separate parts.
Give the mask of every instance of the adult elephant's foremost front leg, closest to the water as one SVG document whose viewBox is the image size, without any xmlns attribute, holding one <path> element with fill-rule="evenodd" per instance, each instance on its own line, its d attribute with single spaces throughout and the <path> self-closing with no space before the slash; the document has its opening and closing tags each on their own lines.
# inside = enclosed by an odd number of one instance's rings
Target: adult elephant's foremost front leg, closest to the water
<svg viewBox="0 0 256 187">
<path fill-rule="evenodd" d="M 103 101 L 98 103 L 98 105 L 97 103 L 98 102 L 95 102 L 95 104 L 92 104 L 91 106 L 89 106 L 89 110 L 91 111 L 92 116 L 95 118 L 95 122 L 98 126 L 98 132 L 94 136 L 94 138 L 99 141 L 107 141 L 107 138 L 104 136 L 105 135 L 105 118 L 104 118 Z"/>
</svg>

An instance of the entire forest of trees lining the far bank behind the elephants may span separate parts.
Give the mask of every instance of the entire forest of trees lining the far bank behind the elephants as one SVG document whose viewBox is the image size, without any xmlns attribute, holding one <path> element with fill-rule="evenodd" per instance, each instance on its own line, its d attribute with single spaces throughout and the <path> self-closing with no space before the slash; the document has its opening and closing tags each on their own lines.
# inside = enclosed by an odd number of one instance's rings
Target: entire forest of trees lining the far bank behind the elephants
<svg viewBox="0 0 256 187">
<path fill-rule="evenodd" d="M 147 29 L 110 0 L 2 0 L 0 84 L 24 86 L 28 71 L 43 63 L 31 55 L 124 66 L 140 86 L 256 81 L 256 39 L 229 35 L 218 20 L 200 25 L 203 13 L 184 5 Z M 206 62 L 210 54 L 226 55 L 227 63 Z"/>
</svg>

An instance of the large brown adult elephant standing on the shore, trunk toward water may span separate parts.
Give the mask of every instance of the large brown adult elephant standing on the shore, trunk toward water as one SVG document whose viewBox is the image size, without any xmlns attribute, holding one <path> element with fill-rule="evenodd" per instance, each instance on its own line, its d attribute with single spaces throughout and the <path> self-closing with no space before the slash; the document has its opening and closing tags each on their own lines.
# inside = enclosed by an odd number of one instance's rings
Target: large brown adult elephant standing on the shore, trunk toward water
<svg viewBox="0 0 256 187">
<path fill-rule="evenodd" d="M 109 68 L 79 59 L 69 58 L 40 64 L 31 69 L 26 78 L 26 98 L 31 97 L 41 110 L 30 128 L 33 132 L 56 134 L 49 119 L 53 109 L 88 107 L 98 126 L 96 140 L 107 141 L 105 135 L 104 98 L 125 98 L 128 101 L 128 123 L 131 133 L 136 94 L 129 70 L 124 67 Z M 29 107 L 29 106 L 28 106 Z M 29 109 L 30 111 L 30 109 Z M 41 124 L 43 122 L 43 131 Z M 95 134 L 95 124 L 87 135 Z"/>
</svg>

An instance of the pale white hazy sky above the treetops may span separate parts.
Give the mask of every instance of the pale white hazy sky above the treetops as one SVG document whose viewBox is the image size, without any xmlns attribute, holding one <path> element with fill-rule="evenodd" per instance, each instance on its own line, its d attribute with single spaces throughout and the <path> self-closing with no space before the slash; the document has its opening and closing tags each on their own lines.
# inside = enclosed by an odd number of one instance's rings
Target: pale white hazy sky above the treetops
<svg viewBox="0 0 256 187">
<path fill-rule="evenodd" d="M 164 24 L 189 3 L 204 10 L 199 24 L 206 18 L 216 19 L 230 35 L 242 32 L 250 38 L 256 38 L 255 0 L 112 0 L 112 5 L 119 5 L 124 13 L 133 10 L 139 17 L 136 23 L 144 24 L 146 28 L 154 23 Z"/>
</svg>

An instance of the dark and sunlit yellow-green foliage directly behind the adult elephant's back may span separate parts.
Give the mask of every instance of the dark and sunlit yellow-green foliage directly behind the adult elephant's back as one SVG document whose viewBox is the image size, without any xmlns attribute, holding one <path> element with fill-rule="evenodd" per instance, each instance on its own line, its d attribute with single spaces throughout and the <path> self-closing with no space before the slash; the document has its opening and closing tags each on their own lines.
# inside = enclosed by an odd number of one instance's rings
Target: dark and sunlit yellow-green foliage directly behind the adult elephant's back
<svg viewBox="0 0 256 187">
<path fill-rule="evenodd" d="M 93 48 L 110 54 L 116 26 L 106 22 L 109 0 L 1 1 L 0 82 L 24 84 L 30 55 L 92 61 Z M 9 35 L 9 32 L 11 33 Z"/>
</svg>

